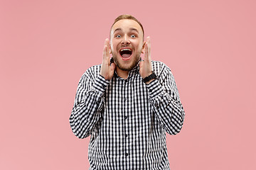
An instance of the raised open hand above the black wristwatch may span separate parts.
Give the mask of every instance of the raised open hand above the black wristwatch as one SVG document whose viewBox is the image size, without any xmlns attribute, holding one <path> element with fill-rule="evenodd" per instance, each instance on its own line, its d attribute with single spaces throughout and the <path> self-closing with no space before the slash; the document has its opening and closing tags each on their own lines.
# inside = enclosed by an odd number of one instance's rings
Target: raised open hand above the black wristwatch
<svg viewBox="0 0 256 170">
<path fill-rule="evenodd" d="M 144 79 L 152 73 L 150 38 L 146 38 L 144 61 L 139 63 L 139 74 Z"/>
</svg>

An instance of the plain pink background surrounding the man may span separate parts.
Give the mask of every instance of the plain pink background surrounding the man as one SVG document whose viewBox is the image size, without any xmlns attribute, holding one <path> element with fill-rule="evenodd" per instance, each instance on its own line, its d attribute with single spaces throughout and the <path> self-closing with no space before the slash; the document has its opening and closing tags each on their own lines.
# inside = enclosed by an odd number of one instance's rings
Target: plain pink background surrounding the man
<svg viewBox="0 0 256 170">
<path fill-rule="evenodd" d="M 130 13 L 172 70 L 186 111 L 172 170 L 256 169 L 256 2 L 0 1 L 0 169 L 88 169 L 68 118 L 78 81 Z"/>
</svg>

